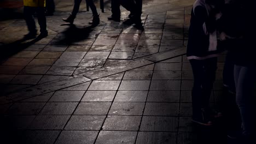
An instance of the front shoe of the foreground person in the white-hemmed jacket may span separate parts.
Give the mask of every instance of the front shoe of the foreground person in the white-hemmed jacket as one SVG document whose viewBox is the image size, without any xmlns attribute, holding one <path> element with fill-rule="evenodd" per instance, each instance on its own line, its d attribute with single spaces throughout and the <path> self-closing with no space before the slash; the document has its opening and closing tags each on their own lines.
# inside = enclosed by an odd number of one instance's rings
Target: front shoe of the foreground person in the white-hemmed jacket
<svg viewBox="0 0 256 144">
<path fill-rule="evenodd" d="M 193 113 L 193 115 L 194 115 L 194 113 Z M 197 117 L 193 116 L 192 122 L 200 124 L 200 125 L 204 125 L 204 126 L 212 125 L 210 115 L 209 115 L 208 111 L 205 109 L 201 109 L 201 116 L 197 116 Z"/>
</svg>

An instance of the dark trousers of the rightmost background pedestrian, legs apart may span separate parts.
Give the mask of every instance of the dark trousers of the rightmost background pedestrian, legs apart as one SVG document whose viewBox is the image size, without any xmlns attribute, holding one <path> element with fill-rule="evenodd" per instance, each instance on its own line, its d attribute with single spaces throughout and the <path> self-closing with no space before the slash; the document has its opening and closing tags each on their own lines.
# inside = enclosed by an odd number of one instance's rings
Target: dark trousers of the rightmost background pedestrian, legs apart
<svg viewBox="0 0 256 144">
<path fill-rule="evenodd" d="M 135 13 L 135 2 L 133 0 L 111 0 L 111 12 L 113 17 L 121 16 L 120 5 L 130 11 L 131 14 Z"/>
</svg>

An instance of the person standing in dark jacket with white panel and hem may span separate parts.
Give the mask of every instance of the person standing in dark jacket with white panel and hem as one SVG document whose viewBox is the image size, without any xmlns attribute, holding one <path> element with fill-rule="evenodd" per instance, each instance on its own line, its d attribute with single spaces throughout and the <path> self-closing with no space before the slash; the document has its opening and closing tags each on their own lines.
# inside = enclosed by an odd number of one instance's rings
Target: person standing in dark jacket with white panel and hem
<svg viewBox="0 0 256 144">
<path fill-rule="evenodd" d="M 187 58 L 194 75 L 192 89 L 193 122 L 212 125 L 209 99 L 217 69 L 216 20 L 222 1 L 196 0 L 191 12 Z"/>
</svg>

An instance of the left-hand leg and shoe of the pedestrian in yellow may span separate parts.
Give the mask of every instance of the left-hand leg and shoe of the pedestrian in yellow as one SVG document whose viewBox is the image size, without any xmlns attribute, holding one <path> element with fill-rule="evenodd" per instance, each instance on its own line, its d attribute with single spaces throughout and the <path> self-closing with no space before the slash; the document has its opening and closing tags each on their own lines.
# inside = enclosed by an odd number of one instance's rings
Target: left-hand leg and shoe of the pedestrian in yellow
<svg viewBox="0 0 256 144">
<path fill-rule="evenodd" d="M 33 18 L 35 11 L 36 10 L 34 7 L 24 6 L 24 18 L 27 23 L 27 28 L 29 31 L 29 33 L 24 36 L 24 39 L 36 38 L 37 29 L 36 29 L 36 23 L 34 22 L 34 18 Z"/>
</svg>

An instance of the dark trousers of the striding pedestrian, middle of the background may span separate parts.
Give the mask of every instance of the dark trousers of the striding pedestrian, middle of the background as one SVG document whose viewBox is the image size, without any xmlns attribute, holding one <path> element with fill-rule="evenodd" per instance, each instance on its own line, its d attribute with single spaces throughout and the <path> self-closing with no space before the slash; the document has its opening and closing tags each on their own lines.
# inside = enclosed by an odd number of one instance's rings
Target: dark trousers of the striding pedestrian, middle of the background
<svg viewBox="0 0 256 144">
<path fill-rule="evenodd" d="M 91 8 L 92 14 L 93 15 L 98 15 L 97 9 L 96 9 L 95 4 L 94 4 L 94 1 L 93 0 L 85 0 L 85 1 L 86 1 L 86 4 L 88 4 L 89 7 Z M 74 0 L 74 8 L 73 8 L 73 11 L 72 11 L 73 16 L 77 15 L 81 2 L 82 2 L 82 0 Z"/>
</svg>

